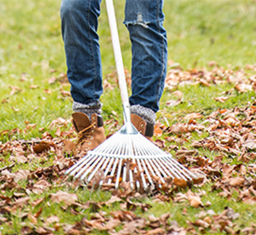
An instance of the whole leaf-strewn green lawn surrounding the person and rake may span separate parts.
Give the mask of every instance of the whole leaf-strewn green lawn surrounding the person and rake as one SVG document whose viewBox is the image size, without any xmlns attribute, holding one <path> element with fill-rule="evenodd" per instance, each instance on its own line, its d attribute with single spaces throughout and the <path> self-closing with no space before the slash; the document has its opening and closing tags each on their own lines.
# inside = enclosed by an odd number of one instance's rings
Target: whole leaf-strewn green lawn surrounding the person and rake
<svg viewBox="0 0 256 235">
<path fill-rule="evenodd" d="M 154 141 L 202 181 L 148 194 L 65 177 L 76 159 L 60 4 L 0 1 L 0 234 L 255 234 L 254 1 L 165 1 L 168 76 Z M 124 5 L 115 1 L 129 79 Z M 103 2 L 101 101 L 112 134 L 123 117 L 106 19 Z"/>
</svg>

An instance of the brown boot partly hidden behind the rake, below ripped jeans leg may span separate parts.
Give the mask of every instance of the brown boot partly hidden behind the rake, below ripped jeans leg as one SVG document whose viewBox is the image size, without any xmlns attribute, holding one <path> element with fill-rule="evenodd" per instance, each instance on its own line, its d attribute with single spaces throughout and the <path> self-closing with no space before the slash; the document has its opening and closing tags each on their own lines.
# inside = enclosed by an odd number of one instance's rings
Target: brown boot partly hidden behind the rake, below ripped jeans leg
<svg viewBox="0 0 256 235">
<path fill-rule="evenodd" d="M 138 130 L 139 133 L 143 134 L 148 140 L 153 141 L 152 136 L 154 135 L 154 125 L 144 121 L 141 117 L 136 114 L 131 114 L 131 123 Z"/>
</svg>

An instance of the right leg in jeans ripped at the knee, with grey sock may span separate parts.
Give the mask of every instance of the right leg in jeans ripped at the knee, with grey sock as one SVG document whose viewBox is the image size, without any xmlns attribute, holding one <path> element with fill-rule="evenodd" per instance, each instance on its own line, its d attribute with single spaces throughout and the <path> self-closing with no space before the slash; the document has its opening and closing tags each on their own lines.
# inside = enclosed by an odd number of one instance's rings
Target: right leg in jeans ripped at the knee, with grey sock
<svg viewBox="0 0 256 235">
<path fill-rule="evenodd" d="M 125 26 L 132 43 L 131 113 L 154 125 L 164 89 L 167 38 L 163 28 L 164 0 L 127 0 Z"/>
</svg>

